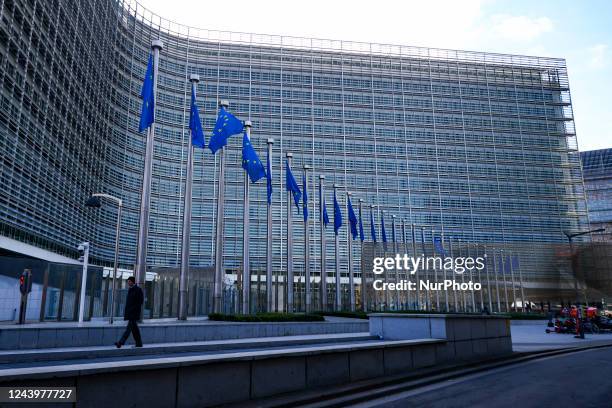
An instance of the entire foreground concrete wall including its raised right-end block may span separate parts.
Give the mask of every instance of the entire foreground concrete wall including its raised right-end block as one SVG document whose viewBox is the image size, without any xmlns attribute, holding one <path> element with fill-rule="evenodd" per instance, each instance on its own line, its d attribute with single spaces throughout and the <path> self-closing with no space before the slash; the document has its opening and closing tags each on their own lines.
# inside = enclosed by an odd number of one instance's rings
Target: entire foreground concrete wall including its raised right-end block
<svg viewBox="0 0 612 408">
<path fill-rule="evenodd" d="M 208 407 L 512 352 L 504 317 L 384 313 L 369 323 L 381 340 L 2 368 L 0 386 L 73 386 L 79 408 Z"/>
</svg>

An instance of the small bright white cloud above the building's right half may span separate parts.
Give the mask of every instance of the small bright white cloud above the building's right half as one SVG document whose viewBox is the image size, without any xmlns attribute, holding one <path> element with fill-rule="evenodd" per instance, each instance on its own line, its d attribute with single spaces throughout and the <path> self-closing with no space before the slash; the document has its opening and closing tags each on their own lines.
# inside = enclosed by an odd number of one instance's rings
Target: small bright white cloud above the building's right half
<svg viewBox="0 0 612 408">
<path fill-rule="evenodd" d="M 553 30 L 548 17 L 511 16 L 496 14 L 491 17 L 493 32 L 510 40 L 530 41 Z"/>
</svg>

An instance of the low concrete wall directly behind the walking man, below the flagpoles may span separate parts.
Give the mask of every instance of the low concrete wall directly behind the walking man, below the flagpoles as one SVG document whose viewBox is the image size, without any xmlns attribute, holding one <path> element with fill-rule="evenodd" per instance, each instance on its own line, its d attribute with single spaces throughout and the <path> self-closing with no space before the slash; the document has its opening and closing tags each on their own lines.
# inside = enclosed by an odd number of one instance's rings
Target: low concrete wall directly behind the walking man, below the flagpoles
<svg viewBox="0 0 612 408">
<path fill-rule="evenodd" d="M 0 328 L 0 350 L 54 347 L 111 346 L 121 337 L 125 325 L 85 326 L 39 324 L 32 327 Z M 314 334 L 362 333 L 368 331 L 367 320 L 275 323 L 145 323 L 140 325 L 147 344 L 244 339 L 254 337 L 301 336 Z M 130 336 L 128 344 L 133 344 Z"/>
</svg>

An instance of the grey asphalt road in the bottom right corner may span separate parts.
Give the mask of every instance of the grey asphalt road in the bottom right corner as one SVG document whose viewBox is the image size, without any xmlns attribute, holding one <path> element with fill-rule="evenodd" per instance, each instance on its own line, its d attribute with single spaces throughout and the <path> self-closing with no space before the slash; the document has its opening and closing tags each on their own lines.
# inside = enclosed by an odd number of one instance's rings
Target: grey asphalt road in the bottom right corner
<svg viewBox="0 0 612 408">
<path fill-rule="evenodd" d="M 612 407 L 612 347 L 502 367 L 353 407 Z"/>
</svg>

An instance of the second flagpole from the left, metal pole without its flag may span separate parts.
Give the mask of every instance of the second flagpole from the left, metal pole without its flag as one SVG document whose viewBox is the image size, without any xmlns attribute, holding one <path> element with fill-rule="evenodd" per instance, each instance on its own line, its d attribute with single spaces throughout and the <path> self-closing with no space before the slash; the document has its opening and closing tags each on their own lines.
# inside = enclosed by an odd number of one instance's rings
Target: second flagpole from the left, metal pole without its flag
<svg viewBox="0 0 612 408">
<path fill-rule="evenodd" d="M 200 76 L 191 74 L 191 91 L 196 97 L 196 88 L 200 82 Z M 187 175 L 185 177 L 185 197 L 183 204 L 183 240 L 181 242 L 181 271 L 179 276 L 179 310 L 178 319 L 187 320 L 187 288 L 189 280 L 189 245 L 191 242 L 191 197 L 193 188 L 193 142 L 189 138 L 189 149 L 187 151 Z"/>
</svg>

